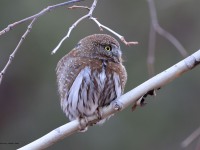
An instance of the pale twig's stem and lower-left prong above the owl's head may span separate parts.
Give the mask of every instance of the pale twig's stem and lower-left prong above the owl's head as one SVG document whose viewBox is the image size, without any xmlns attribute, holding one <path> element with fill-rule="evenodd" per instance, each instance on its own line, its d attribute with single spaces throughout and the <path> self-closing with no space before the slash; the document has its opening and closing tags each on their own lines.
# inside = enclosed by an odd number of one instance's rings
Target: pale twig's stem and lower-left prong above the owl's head
<svg viewBox="0 0 200 150">
<path fill-rule="evenodd" d="M 82 17 L 79 18 L 74 24 L 72 24 L 72 26 L 71 26 L 71 27 L 69 28 L 69 30 L 68 30 L 67 35 L 61 39 L 61 41 L 60 41 L 60 42 L 58 43 L 58 45 L 54 48 L 54 50 L 51 52 L 51 54 L 55 54 L 55 53 L 56 53 L 56 51 L 60 48 L 60 46 L 62 45 L 62 43 L 63 43 L 67 38 L 69 38 L 69 36 L 70 36 L 72 30 L 73 30 L 82 20 L 84 20 L 84 19 L 89 18 L 89 17 L 92 16 L 92 13 L 93 13 L 93 11 L 94 11 L 94 9 L 95 9 L 95 7 L 96 7 L 97 2 L 98 2 L 98 0 L 94 0 L 94 2 L 92 3 L 92 6 L 91 6 L 90 9 L 89 9 L 88 14 L 82 16 Z M 74 7 L 74 8 L 75 8 L 75 7 Z"/>
</svg>

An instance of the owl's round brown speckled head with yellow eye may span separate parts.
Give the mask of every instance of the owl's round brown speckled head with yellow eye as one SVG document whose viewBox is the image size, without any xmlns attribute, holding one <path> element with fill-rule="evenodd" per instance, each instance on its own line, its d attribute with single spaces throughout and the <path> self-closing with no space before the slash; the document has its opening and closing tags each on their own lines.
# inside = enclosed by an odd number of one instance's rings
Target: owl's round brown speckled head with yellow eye
<svg viewBox="0 0 200 150">
<path fill-rule="evenodd" d="M 80 40 L 77 48 L 82 55 L 95 59 L 121 62 L 122 52 L 116 39 L 107 34 L 93 34 Z"/>
</svg>

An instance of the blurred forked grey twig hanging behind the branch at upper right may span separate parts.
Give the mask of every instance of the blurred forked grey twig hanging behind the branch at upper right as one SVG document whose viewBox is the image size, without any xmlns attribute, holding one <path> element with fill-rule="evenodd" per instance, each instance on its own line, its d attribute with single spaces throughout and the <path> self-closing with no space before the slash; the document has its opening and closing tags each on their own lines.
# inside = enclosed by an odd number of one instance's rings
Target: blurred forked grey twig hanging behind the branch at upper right
<svg viewBox="0 0 200 150">
<path fill-rule="evenodd" d="M 152 75 L 152 70 L 154 70 L 153 66 L 155 61 L 154 58 L 155 51 L 153 50 L 155 49 L 155 38 L 156 38 L 155 32 L 157 32 L 158 34 L 166 38 L 168 41 L 170 41 L 183 57 L 186 57 L 188 54 L 185 48 L 181 45 L 181 43 L 172 34 L 164 30 L 158 23 L 158 17 L 156 13 L 154 0 L 147 0 L 147 2 L 151 17 L 150 39 L 149 39 L 149 49 L 148 49 L 149 51 L 148 54 L 150 56 L 148 55 L 147 63 L 148 63 L 148 70 L 150 71 L 149 73 Z"/>
</svg>

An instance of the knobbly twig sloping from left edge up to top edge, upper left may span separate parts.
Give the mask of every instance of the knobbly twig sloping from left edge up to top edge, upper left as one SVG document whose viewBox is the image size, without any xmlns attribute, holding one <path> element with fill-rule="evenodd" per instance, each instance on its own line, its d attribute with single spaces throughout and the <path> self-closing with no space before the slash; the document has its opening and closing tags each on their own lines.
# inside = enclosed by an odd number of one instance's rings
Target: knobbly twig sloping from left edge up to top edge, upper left
<svg viewBox="0 0 200 150">
<path fill-rule="evenodd" d="M 58 8 L 58 7 L 61 7 L 61 6 L 66 6 L 66 5 L 76 3 L 76 2 L 80 2 L 80 1 L 84 1 L 84 0 L 71 0 L 71 1 L 63 2 L 63 3 L 59 3 L 59 4 L 56 4 L 56 5 L 48 6 L 47 8 L 43 9 L 42 11 L 40 11 L 39 13 L 37 13 L 33 16 L 30 16 L 30 17 L 24 18 L 20 21 L 9 24 L 5 29 L 0 31 L 0 36 L 3 35 L 4 33 L 8 32 L 8 31 L 10 31 L 14 27 L 16 27 L 16 25 L 19 25 L 19 24 L 24 23 L 24 22 L 29 21 L 29 20 L 33 20 L 34 18 L 38 18 L 38 17 L 44 15 L 45 13 L 52 11 L 55 8 Z"/>
</svg>

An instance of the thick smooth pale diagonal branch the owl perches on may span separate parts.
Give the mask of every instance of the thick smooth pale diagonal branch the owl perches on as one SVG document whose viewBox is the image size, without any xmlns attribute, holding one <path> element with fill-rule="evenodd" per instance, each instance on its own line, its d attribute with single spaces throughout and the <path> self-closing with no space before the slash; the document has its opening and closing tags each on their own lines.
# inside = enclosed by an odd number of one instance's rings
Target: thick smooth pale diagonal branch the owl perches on
<svg viewBox="0 0 200 150">
<path fill-rule="evenodd" d="M 147 80 L 126 94 L 122 95 L 119 99 L 111 103 L 109 106 L 103 107 L 100 110 L 102 114 L 102 119 L 107 118 L 111 114 L 117 111 L 123 110 L 129 105 L 135 104 L 137 100 L 152 90 L 157 90 L 173 81 L 174 79 L 181 76 L 183 73 L 190 71 L 195 66 L 200 64 L 200 50 L 192 54 L 191 56 L 185 58 L 179 63 L 173 65 L 169 69 L 161 72 L 160 74 L 154 76 L 153 78 Z M 56 128 L 55 130 L 49 132 L 43 137 L 33 141 L 32 143 L 19 148 L 18 150 L 29 150 L 29 149 L 45 149 L 55 142 L 67 137 L 73 133 L 80 131 L 80 126 L 87 126 L 88 124 L 95 123 L 99 121 L 97 115 L 93 115 L 87 118 L 82 118 L 80 120 L 71 121 L 63 126 Z"/>
</svg>

